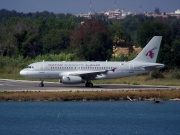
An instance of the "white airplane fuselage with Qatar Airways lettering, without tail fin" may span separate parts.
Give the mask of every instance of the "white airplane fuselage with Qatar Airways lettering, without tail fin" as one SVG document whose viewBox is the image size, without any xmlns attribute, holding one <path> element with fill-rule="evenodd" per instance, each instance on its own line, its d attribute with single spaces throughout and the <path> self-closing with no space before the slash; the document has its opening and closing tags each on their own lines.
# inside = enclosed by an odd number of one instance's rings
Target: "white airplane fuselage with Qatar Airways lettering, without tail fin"
<svg viewBox="0 0 180 135">
<path fill-rule="evenodd" d="M 158 66 L 157 69 L 164 67 L 158 63 L 140 63 L 140 62 L 37 62 L 29 65 L 20 71 L 22 76 L 39 79 L 62 79 L 68 75 L 88 75 L 89 73 L 98 73 L 91 80 L 121 78 L 142 74 L 151 71 L 146 70 L 145 66 Z M 113 70 L 114 69 L 114 70 Z"/>
</svg>

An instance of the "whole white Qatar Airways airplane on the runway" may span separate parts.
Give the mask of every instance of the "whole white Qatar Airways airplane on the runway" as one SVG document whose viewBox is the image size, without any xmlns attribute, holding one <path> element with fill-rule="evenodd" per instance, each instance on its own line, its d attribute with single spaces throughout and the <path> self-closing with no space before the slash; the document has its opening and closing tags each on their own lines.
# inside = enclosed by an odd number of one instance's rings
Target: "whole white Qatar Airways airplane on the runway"
<svg viewBox="0 0 180 135">
<path fill-rule="evenodd" d="M 91 80 L 114 79 L 164 68 L 164 64 L 156 63 L 162 36 L 154 36 L 143 50 L 131 61 L 42 61 L 28 65 L 20 71 L 20 75 L 41 80 L 60 79 L 62 84 L 80 84 L 93 87 Z"/>
</svg>

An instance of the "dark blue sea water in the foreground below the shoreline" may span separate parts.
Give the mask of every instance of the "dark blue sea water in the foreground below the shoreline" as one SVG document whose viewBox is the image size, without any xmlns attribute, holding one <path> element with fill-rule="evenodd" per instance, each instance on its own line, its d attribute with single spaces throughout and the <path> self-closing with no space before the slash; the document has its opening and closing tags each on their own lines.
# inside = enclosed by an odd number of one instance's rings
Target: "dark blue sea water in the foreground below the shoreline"
<svg viewBox="0 0 180 135">
<path fill-rule="evenodd" d="M 180 134 L 180 102 L 0 103 L 0 135 L 132 134 Z"/>
</svg>

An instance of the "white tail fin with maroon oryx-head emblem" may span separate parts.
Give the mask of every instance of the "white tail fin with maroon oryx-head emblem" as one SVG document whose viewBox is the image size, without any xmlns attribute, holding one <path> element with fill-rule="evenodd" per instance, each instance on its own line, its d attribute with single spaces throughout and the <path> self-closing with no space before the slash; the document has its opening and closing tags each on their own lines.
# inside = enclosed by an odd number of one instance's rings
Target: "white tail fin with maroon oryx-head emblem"
<svg viewBox="0 0 180 135">
<path fill-rule="evenodd" d="M 158 56 L 161 40 L 162 36 L 154 36 L 138 54 L 138 56 L 132 61 L 155 63 Z"/>
</svg>

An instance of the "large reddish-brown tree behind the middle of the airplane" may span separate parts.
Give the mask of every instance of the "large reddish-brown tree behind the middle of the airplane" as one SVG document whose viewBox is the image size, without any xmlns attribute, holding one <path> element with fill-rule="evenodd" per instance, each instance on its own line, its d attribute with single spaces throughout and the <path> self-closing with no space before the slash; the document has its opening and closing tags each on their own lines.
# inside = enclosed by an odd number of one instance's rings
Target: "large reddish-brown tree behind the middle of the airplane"
<svg viewBox="0 0 180 135">
<path fill-rule="evenodd" d="M 112 41 L 107 27 L 88 19 L 76 27 L 71 36 L 76 55 L 86 60 L 107 60 L 112 54 Z"/>
</svg>

